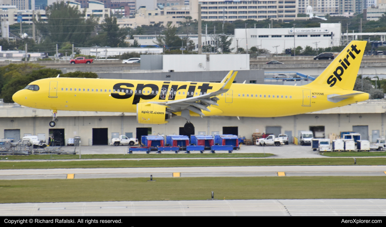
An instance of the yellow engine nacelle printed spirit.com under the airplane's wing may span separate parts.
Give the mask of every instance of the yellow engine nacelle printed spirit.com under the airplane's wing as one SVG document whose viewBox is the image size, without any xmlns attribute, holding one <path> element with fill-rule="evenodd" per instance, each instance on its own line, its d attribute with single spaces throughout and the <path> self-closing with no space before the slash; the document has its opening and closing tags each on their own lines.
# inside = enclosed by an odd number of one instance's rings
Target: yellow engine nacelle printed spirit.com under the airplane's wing
<svg viewBox="0 0 386 227">
<path fill-rule="evenodd" d="M 166 124 L 173 113 L 166 106 L 155 103 L 137 103 L 137 122 L 140 124 Z"/>
</svg>

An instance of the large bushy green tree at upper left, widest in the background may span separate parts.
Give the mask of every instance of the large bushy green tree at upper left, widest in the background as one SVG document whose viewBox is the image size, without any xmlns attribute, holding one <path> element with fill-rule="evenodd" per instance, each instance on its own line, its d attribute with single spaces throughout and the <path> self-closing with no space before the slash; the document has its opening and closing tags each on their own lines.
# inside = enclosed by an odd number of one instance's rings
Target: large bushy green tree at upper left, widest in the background
<svg viewBox="0 0 386 227">
<path fill-rule="evenodd" d="M 41 15 L 38 15 L 39 20 L 34 23 L 43 35 L 44 42 L 85 43 L 97 22 L 92 16 L 85 20 L 86 9 L 83 12 L 79 10 L 78 7 L 71 7 L 62 1 L 47 7 L 47 21 L 43 21 Z"/>
</svg>

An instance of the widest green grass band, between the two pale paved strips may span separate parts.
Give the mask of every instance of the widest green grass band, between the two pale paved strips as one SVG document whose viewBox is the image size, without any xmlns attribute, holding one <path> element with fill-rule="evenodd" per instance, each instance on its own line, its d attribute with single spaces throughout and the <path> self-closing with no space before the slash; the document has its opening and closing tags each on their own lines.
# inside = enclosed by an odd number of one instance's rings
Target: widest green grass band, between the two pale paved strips
<svg viewBox="0 0 386 227">
<path fill-rule="evenodd" d="M 0 181 L 0 203 L 217 199 L 380 199 L 384 177 L 239 177 Z"/>
</svg>

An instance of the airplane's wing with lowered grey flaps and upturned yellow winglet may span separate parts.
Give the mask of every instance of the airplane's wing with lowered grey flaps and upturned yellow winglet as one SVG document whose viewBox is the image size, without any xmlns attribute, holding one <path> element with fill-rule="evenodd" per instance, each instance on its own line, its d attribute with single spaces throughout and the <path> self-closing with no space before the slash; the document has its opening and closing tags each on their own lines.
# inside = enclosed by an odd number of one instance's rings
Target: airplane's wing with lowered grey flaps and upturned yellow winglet
<svg viewBox="0 0 386 227">
<path fill-rule="evenodd" d="M 166 105 L 168 109 L 174 112 L 179 112 L 187 109 L 197 113 L 200 116 L 205 116 L 202 110 L 210 112 L 210 109 L 208 109 L 210 105 L 218 105 L 217 101 L 219 100 L 219 98 L 217 98 L 216 96 L 221 93 L 225 93 L 226 91 L 229 90 L 230 86 L 235 80 L 237 73 L 238 73 L 237 71 L 234 73 L 233 71 L 230 71 L 228 75 L 226 75 L 226 77 L 222 80 L 222 81 L 225 81 L 225 83 L 217 91 L 198 95 L 195 97 L 190 97 L 190 98 L 184 98 L 184 99 L 172 100 L 172 101 L 166 101 L 166 102 L 151 102 L 151 103 Z"/>
</svg>

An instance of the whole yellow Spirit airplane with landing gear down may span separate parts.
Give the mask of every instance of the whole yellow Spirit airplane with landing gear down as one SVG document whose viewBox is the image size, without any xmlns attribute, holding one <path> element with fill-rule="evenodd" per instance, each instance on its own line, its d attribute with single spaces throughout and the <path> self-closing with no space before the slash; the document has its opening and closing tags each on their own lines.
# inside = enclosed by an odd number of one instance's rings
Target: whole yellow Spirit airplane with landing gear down
<svg viewBox="0 0 386 227">
<path fill-rule="evenodd" d="M 53 110 L 136 112 L 142 124 L 166 124 L 174 116 L 281 117 L 369 99 L 353 91 L 366 41 L 352 41 L 323 73 L 304 86 L 236 84 L 230 71 L 220 83 L 86 78 L 47 78 L 13 95 L 20 105 Z M 55 122 L 50 122 L 54 127 Z"/>
</svg>

